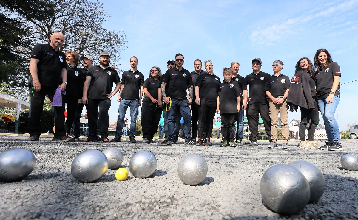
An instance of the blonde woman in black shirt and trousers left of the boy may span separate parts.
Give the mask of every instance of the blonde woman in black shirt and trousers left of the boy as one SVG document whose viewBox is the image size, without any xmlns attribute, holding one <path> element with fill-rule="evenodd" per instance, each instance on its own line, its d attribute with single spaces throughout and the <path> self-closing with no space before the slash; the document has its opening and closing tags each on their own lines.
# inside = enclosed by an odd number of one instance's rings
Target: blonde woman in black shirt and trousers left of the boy
<svg viewBox="0 0 358 220">
<path fill-rule="evenodd" d="M 220 87 L 220 78 L 213 74 L 213 64 L 205 61 L 205 70 L 198 75 L 195 81 L 195 104 L 198 109 L 198 142 L 197 146 L 213 146 L 210 142 L 211 131 L 213 130 L 213 119 L 216 111 L 216 100 Z M 203 135 L 206 134 L 205 137 Z"/>
</svg>

